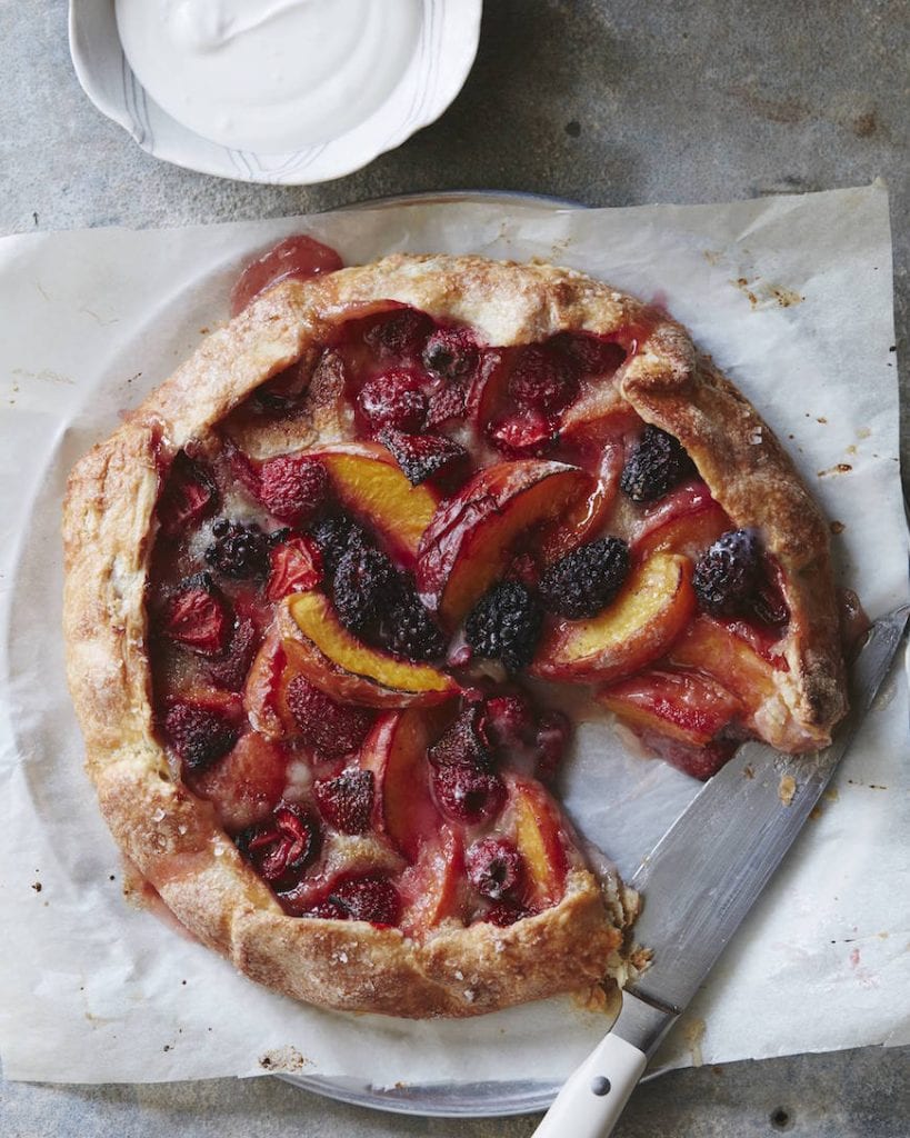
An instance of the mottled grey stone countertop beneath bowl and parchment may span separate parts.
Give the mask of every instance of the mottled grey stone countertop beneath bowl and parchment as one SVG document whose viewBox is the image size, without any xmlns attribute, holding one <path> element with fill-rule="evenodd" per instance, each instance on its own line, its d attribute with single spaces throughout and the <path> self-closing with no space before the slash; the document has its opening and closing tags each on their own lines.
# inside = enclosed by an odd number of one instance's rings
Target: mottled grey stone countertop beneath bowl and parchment
<svg viewBox="0 0 910 1138">
<path fill-rule="evenodd" d="M 880 176 L 891 191 L 905 381 L 908 63 L 905 0 L 488 0 L 474 68 L 435 125 L 348 178 L 279 188 L 220 181 L 148 157 L 78 88 L 63 0 L 3 0 L 0 233 L 273 217 L 421 190 L 520 190 L 638 205 L 804 192 Z M 862 329 L 857 349 L 859 361 Z M 908 1057 L 907 1049 L 868 1048 L 676 1072 L 636 1091 L 617 1135 L 905 1138 Z M 275 1079 L 0 1089 L 5 1138 L 519 1138 L 536 1121 L 378 1114 Z"/>
</svg>

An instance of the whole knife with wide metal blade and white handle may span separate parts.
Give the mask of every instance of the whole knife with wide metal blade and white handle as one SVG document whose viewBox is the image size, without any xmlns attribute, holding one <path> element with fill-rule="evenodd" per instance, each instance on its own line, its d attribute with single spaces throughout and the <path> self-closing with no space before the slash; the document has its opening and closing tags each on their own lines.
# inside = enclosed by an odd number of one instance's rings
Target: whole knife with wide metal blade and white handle
<svg viewBox="0 0 910 1138">
<path fill-rule="evenodd" d="M 604 1138 L 647 1061 L 697 992 L 828 784 L 875 701 L 910 605 L 870 628 L 852 669 L 852 709 L 830 747 L 787 756 L 746 743 L 710 780 L 636 871 L 635 940 L 652 965 L 622 993 L 609 1034 L 570 1077 L 536 1138 Z"/>
</svg>

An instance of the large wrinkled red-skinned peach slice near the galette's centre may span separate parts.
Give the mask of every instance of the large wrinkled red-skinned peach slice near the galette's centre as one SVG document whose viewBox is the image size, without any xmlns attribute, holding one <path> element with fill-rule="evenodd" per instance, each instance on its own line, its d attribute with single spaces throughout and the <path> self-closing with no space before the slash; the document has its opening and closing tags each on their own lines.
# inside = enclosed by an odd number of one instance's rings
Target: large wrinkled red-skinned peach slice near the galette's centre
<svg viewBox="0 0 910 1138">
<path fill-rule="evenodd" d="M 523 533 L 555 519 L 566 528 L 579 523 L 596 490 L 596 479 L 561 462 L 526 459 L 479 471 L 442 503 L 423 535 L 421 600 L 444 622 L 457 624 L 505 571 Z"/>
</svg>

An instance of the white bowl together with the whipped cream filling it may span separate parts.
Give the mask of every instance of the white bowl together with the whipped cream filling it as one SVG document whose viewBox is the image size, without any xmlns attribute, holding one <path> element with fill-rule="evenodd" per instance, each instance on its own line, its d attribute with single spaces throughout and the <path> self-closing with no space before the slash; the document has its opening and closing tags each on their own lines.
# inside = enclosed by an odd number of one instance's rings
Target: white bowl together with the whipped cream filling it
<svg viewBox="0 0 910 1138">
<path fill-rule="evenodd" d="M 470 71 L 481 0 L 71 0 L 76 74 L 156 157 L 308 184 L 433 122 Z"/>
</svg>

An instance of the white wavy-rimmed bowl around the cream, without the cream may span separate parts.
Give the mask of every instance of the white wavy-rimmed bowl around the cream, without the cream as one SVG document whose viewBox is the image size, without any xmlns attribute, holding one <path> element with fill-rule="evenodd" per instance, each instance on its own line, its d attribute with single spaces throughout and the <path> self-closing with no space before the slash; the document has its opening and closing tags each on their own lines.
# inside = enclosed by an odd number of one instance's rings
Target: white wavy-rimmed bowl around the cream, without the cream
<svg viewBox="0 0 910 1138">
<path fill-rule="evenodd" d="M 242 182 L 309 185 L 359 170 L 442 114 L 474 61 L 481 8 L 482 0 L 423 0 L 417 50 L 391 96 L 353 130 L 290 154 L 220 146 L 162 110 L 126 63 L 114 0 L 69 0 L 69 51 L 96 107 L 156 158 Z"/>
</svg>

